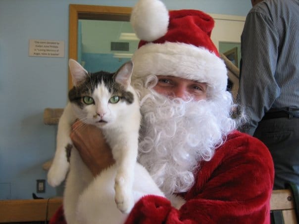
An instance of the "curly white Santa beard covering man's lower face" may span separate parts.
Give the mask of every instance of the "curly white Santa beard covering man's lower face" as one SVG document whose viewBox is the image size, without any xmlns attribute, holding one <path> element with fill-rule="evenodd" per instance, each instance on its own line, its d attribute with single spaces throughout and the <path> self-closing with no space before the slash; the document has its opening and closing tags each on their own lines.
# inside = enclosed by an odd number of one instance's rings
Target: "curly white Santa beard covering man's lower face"
<svg viewBox="0 0 299 224">
<path fill-rule="evenodd" d="M 236 128 L 231 97 L 185 102 L 154 90 L 147 93 L 141 102 L 139 162 L 166 196 L 186 192 L 194 185 L 200 161 L 209 161 Z"/>
</svg>

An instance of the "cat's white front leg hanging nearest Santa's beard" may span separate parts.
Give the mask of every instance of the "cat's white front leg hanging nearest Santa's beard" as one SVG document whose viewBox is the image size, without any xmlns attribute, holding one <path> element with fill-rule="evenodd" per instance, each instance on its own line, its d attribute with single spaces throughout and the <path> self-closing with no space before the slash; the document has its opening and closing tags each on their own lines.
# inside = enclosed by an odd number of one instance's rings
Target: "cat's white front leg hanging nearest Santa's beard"
<svg viewBox="0 0 299 224">
<path fill-rule="evenodd" d="M 124 142 L 112 148 L 116 158 L 117 172 L 115 176 L 115 202 L 122 213 L 129 213 L 134 206 L 133 181 L 138 152 L 138 135 L 127 136 Z"/>
</svg>

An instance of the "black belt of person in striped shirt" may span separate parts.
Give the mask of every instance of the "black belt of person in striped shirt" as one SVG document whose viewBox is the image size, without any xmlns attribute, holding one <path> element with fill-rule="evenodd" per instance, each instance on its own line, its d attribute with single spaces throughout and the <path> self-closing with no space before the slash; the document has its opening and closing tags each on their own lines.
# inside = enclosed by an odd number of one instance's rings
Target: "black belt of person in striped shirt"
<svg viewBox="0 0 299 224">
<path fill-rule="evenodd" d="M 267 113 L 265 113 L 262 120 L 275 118 L 299 118 L 299 109 L 291 107 L 270 109 Z"/>
</svg>

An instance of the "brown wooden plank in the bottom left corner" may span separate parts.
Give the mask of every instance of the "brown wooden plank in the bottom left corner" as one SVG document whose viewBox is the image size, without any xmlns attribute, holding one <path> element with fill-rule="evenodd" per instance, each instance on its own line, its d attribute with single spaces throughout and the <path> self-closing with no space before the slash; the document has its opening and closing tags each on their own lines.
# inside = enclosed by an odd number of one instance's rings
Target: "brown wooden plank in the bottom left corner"
<svg viewBox="0 0 299 224">
<path fill-rule="evenodd" d="M 49 221 L 62 198 L 0 200 L 0 223 Z"/>
</svg>

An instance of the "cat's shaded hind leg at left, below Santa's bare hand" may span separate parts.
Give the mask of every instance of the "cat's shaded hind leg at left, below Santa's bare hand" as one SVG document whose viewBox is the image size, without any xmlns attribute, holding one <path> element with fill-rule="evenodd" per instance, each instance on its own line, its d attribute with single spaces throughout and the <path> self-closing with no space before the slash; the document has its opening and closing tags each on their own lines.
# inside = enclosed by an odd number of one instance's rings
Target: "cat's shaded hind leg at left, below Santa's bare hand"
<svg viewBox="0 0 299 224">
<path fill-rule="evenodd" d="M 63 195 L 63 209 L 68 224 L 76 223 L 78 198 L 92 182 L 93 175 L 83 163 L 78 151 L 73 148 L 70 158 L 70 172 L 66 179 Z"/>
</svg>

